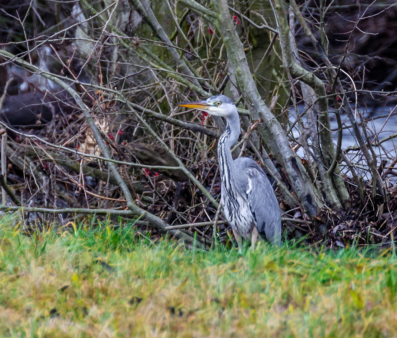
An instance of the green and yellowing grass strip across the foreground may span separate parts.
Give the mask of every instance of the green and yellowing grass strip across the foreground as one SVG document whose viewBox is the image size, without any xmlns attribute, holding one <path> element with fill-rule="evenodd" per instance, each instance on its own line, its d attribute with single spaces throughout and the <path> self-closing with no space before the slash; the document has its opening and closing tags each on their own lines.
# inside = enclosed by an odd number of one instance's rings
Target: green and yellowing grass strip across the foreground
<svg viewBox="0 0 397 338">
<path fill-rule="evenodd" d="M 0 221 L 2 337 L 391 337 L 397 260 L 355 248 L 204 253 L 127 226 Z"/>
</svg>

